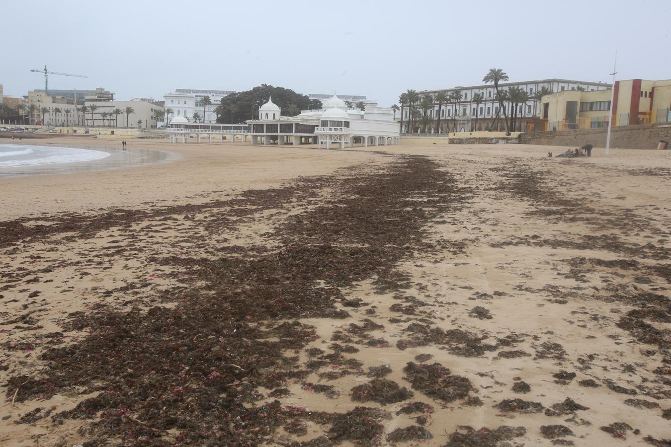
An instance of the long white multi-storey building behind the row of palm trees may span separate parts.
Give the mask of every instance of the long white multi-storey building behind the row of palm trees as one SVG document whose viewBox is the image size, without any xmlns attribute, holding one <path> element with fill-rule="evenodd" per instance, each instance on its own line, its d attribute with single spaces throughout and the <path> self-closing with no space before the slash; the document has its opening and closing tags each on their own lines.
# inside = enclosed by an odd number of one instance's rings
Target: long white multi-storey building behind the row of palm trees
<svg viewBox="0 0 671 447">
<path fill-rule="evenodd" d="M 567 79 L 543 79 L 543 80 L 529 80 L 523 82 L 502 82 L 499 84 L 499 90 L 508 90 L 511 86 L 518 86 L 525 90 L 530 99 L 525 105 L 520 105 L 517 110 L 518 117 L 518 131 L 533 130 L 536 125 L 535 121 L 540 119 L 540 101 L 533 99 L 534 92 L 539 91 L 544 86 L 550 88 L 552 92 L 561 92 L 564 90 L 578 90 L 585 91 L 592 90 L 607 90 L 611 88 L 611 84 L 605 82 L 587 82 L 580 80 Z M 455 91 L 460 91 L 462 100 L 459 103 L 443 104 L 440 108 L 440 133 L 448 132 L 466 132 L 466 131 L 484 131 L 488 129 L 504 130 L 503 113 L 499 113 L 499 103 L 496 100 L 496 91 L 493 84 L 482 84 L 474 86 L 456 86 L 454 88 L 445 88 L 440 90 L 422 90 L 418 91 L 419 97 L 423 94 L 431 94 L 435 96 L 437 92 L 446 92 L 448 95 Z M 476 93 L 482 94 L 484 101 L 476 105 L 473 102 L 473 95 Z M 504 104 L 506 112 L 510 115 L 510 105 Z M 435 120 L 431 124 L 431 129 L 435 129 L 438 118 L 438 105 L 433 105 L 428 110 L 429 117 Z M 497 117 L 498 115 L 498 117 Z M 403 108 L 403 133 L 409 132 L 407 129 L 407 119 L 409 110 L 407 107 Z M 399 118 L 397 121 L 399 121 Z M 476 125 L 477 123 L 477 125 Z M 537 123 L 540 124 L 540 123 Z M 511 129 L 513 130 L 513 129 Z M 415 130 L 416 131 L 416 130 Z"/>
</svg>

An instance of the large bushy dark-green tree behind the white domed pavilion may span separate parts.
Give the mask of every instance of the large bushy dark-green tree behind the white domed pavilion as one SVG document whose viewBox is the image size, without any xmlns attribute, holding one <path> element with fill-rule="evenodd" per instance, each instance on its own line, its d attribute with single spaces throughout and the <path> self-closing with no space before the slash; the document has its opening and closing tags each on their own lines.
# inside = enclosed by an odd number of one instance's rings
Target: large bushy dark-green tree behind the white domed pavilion
<svg viewBox="0 0 671 447">
<path fill-rule="evenodd" d="M 230 117 L 230 124 L 248 121 L 252 107 L 256 108 L 256 106 L 266 103 L 271 96 L 272 102 L 282 110 L 289 110 L 292 104 L 299 107 L 299 110 L 321 109 L 321 101 L 311 101 L 305 94 L 299 94 L 289 88 L 261 84 L 252 88 L 252 90 L 231 93 L 223 97 L 221 104 L 217 107 L 217 114 L 219 115 L 217 123 L 225 123 L 226 117 Z M 236 107 L 231 109 L 231 105 Z"/>
</svg>

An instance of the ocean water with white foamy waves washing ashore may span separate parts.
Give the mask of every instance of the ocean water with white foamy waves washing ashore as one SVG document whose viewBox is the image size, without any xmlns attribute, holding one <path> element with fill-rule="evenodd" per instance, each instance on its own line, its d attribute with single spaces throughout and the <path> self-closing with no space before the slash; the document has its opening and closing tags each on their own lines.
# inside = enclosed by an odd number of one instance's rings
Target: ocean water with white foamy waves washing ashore
<svg viewBox="0 0 671 447">
<path fill-rule="evenodd" d="M 0 144 L 0 178 L 68 174 L 139 166 L 174 159 L 172 153 L 142 147 Z"/>
</svg>

